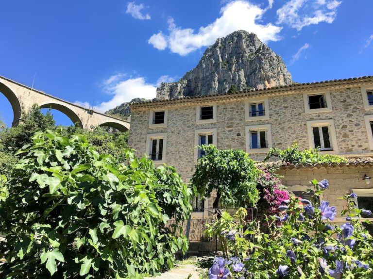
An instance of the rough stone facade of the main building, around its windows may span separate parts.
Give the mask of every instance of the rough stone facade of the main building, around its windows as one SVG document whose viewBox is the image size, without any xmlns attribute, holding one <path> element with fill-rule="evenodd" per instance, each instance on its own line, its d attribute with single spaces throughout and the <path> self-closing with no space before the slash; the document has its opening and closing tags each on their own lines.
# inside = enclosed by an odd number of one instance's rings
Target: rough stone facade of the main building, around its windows
<svg viewBox="0 0 373 279">
<path fill-rule="evenodd" d="M 333 120 L 336 145 L 332 151 L 322 153 L 342 156 L 369 157 L 373 154 L 369 147 L 365 115 L 373 115 L 371 108 L 363 104 L 362 88 L 373 86 L 373 77 L 330 82 L 316 82 L 283 86 L 266 90 L 256 90 L 223 96 L 184 98 L 177 100 L 153 101 L 131 106 L 132 119 L 129 146 L 142 156 L 146 151 L 147 135 L 167 133 L 165 163 L 174 165 L 184 180 L 194 171 L 196 130 L 216 129 L 217 148 L 237 148 L 247 150 L 245 127 L 271 125 L 271 142 L 274 148 L 287 148 L 296 141 L 300 148 L 309 148 L 307 121 Z M 331 111 L 306 113 L 304 94 L 330 94 Z M 245 120 L 245 101 L 268 98 L 269 119 Z M 216 104 L 216 122 L 198 124 L 196 106 Z M 166 127 L 150 128 L 151 110 L 168 111 Z M 254 119 L 254 117 L 252 117 Z M 312 135 L 311 135 L 312 136 Z M 332 135 L 333 136 L 333 135 Z M 311 140 L 312 141 L 312 140 Z M 257 161 L 264 159 L 262 153 L 250 153 Z M 156 163 L 156 161 L 155 161 Z"/>
</svg>

